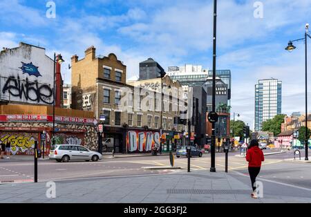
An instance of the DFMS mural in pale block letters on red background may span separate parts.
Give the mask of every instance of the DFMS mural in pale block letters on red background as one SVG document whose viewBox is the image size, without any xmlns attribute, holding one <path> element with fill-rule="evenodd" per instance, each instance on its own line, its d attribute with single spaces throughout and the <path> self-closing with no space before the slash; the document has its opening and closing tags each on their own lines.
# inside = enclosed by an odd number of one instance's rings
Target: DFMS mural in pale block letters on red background
<svg viewBox="0 0 311 217">
<path fill-rule="evenodd" d="M 130 152 L 148 152 L 160 148 L 160 133 L 146 131 L 129 131 L 126 136 L 126 146 Z"/>
</svg>

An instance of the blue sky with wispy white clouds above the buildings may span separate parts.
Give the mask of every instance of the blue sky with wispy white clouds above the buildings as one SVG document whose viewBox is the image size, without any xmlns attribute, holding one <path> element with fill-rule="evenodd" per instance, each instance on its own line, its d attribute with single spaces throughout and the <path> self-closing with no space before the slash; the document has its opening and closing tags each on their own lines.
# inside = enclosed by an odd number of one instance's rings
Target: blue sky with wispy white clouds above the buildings
<svg viewBox="0 0 311 217">
<path fill-rule="evenodd" d="M 46 48 L 50 57 L 62 53 L 66 83 L 70 57 L 83 58 L 90 46 L 97 55 L 115 53 L 126 64 L 128 79 L 149 57 L 165 69 L 212 68 L 212 0 L 54 0 L 55 18 L 46 16 L 48 2 L 1 0 L 0 48 L 23 41 Z M 218 0 L 216 68 L 232 71 L 232 113 L 249 126 L 254 126 L 258 79 L 281 79 L 282 113 L 304 111 L 304 43 L 296 42 L 292 53 L 284 48 L 304 37 L 310 9 L 310 0 Z"/>
</svg>

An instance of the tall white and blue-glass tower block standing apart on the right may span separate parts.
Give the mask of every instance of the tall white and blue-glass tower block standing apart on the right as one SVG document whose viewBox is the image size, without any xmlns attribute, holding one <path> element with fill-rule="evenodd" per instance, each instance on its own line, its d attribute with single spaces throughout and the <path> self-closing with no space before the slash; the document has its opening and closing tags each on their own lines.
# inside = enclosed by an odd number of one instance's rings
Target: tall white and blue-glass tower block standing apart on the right
<svg viewBox="0 0 311 217">
<path fill-rule="evenodd" d="M 261 131 L 263 122 L 282 113 L 282 82 L 261 79 L 255 85 L 255 131 Z"/>
</svg>

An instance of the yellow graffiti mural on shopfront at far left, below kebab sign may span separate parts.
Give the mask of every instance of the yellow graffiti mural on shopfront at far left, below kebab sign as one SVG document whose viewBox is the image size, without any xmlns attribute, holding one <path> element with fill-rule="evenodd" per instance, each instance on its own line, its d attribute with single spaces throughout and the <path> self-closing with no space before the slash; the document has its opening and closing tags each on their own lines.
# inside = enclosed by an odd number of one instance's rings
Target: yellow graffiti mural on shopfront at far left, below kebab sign
<svg viewBox="0 0 311 217">
<path fill-rule="evenodd" d="M 6 144 L 11 143 L 11 152 L 13 155 L 31 155 L 35 147 L 35 141 L 38 140 L 38 133 L 18 133 L 1 132 L 0 141 Z"/>
</svg>

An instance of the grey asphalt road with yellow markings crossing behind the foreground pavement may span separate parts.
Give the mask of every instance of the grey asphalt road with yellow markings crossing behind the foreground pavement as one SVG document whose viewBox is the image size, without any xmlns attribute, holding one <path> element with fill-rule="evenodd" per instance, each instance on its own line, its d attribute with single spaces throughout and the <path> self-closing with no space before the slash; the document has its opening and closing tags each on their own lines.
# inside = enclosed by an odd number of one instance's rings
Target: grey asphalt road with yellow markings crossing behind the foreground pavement
<svg viewBox="0 0 311 217">
<path fill-rule="evenodd" d="M 238 158 L 236 154 L 238 153 L 229 154 L 229 172 L 241 171 L 241 173 L 247 173 L 247 162 L 245 162 L 245 158 Z M 303 171 L 296 171 L 296 169 L 301 167 L 309 168 L 309 164 L 301 165 L 283 162 L 283 159 L 289 158 L 289 155 L 290 153 L 281 153 L 278 155 L 266 156 L 261 176 L 275 180 L 283 180 L 285 178 L 285 180 L 290 183 L 297 181 L 302 186 L 305 186 L 304 180 L 310 180 L 311 177 L 302 176 L 301 173 L 303 173 Z M 101 160 L 100 162 L 68 163 L 59 163 L 53 160 L 39 160 L 38 179 L 39 181 L 44 182 L 48 180 L 68 180 L 77 178 L 164 174 L 180 171 L 173 169 L 150 170 L 143 168 L 152 166 L 170 166 L 169 156 L 158 155 L 131 158 L 104 158 L 104 160 Z M 175 166 L 182 167 L 182 171 L 185 171 L 187 169 L 187 158 L 176 158 Z M 205 154 L 203 158 L 191 158 L 191 171 L 209 170 L 209 168 L 209 154 Z M 32 182 L 34 176 L 33 171 L 34 164 L 31 160 L 0 161 L 0 181 L 2 183 Z M 216 171 L 225 171 L 225 155 L 223 153 L 216 153 Z M 281 173 L 280 171 L 283 172 Z M 288 178 L 288 176 L 290 178 Z M 293 177 L 295 177 L 295 179 L 297 177 L 303 178 L 292 180 Z"/>
</svg>

